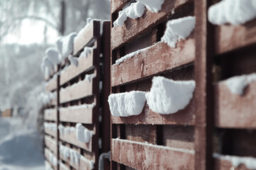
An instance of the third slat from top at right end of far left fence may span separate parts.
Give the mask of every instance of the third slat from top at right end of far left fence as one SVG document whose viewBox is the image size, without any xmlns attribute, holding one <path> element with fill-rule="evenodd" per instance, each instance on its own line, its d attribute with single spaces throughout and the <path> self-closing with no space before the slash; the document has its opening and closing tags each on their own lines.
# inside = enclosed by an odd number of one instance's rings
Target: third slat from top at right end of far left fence
<svg viewBox="0 0 256 170">
<path fill-rule="evenodd" d="M 67 101 L 74 101 L 79 98 L 84 98 L 86 96 L 92 95 L 92 80 L 87 81 L 82 80 L 77 84 L 68 86 L 65 89 L 60 89 L 60 103 L 65 103 Z"/>
</svg>

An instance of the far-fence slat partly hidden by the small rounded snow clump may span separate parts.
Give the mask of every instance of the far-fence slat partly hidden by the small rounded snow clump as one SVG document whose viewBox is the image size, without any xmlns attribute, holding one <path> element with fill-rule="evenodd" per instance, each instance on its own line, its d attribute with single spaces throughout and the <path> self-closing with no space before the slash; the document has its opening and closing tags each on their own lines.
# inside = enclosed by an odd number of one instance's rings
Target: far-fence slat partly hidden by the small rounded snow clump
<svg viewBox="0 0 256 170">
<path fill-rule="evenodd" d="M 68 142 L 70 144 L 73 144 L 77 147 L 81 147 L 82 149 L 85 149 L 89 152 L 92 152 L 92 140 L 94 135 L 92 135 L 90 142 L 83 143 L 79 142 L 75 136 L 75 132 L 70 132 L 69 134 L 62 135 L 60 134 L 60 140 L 63 140 L 65 142 Z"/>
</svg>

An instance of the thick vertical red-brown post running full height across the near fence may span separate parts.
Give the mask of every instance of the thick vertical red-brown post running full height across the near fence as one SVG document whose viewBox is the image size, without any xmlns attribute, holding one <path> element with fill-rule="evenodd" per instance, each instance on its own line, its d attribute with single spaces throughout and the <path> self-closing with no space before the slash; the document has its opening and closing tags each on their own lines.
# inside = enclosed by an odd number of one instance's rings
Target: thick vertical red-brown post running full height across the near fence
<svg viewBox="0 0 256 170">
<path fill-rule="evenodd" d="M 213 169 L 213 26 L 208 23 L 211 0 L 195 1 L 196 60 L 195 60 L 195 168 Z"/>
</svg>

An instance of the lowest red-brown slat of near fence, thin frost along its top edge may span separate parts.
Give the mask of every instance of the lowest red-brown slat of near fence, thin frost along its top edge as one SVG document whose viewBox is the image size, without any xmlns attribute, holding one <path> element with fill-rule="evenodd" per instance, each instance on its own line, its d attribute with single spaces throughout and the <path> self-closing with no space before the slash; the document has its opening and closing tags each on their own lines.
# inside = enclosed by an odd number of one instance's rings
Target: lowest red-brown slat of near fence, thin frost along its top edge
<svg viewBox="0 0 256 170">
<path fill-rule="evenodd" d="M 112 139 L 112 160 L 134 169 L 195 168 L 193 150 L 118 139 Z"/>
</svg>

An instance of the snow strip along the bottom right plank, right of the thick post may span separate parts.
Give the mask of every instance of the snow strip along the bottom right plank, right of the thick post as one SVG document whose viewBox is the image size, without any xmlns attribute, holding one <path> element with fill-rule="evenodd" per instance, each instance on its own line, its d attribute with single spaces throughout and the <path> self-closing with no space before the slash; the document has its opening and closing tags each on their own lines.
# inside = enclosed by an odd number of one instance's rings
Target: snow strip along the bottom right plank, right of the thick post
<svg viewBox="0 0 256 170">
<path fill-rule="evenodd" d="M 235 167 L 238 167 L 240 164 L 244 164 L 247 169 L 256 169 L 256 159 L 253 157 L 235 157 L 217 153 L 213 154 L 213 157 L 231 162 Z"/>
</svg>

